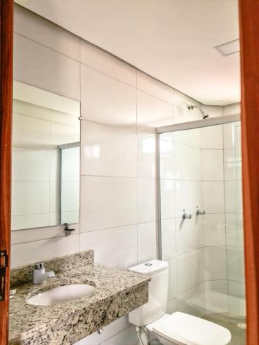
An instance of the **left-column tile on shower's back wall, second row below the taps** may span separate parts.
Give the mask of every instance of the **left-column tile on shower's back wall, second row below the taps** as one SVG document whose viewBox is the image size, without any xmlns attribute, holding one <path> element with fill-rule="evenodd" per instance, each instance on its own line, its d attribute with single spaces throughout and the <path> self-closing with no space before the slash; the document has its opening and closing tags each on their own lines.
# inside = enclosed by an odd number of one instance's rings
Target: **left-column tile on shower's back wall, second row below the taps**
<svg viewBox="0 0 259 345">
<path fill-rule="evenodd" d="M 227 279 L 226 247 L 204 247 L 204 279 Z"/>
</svg>

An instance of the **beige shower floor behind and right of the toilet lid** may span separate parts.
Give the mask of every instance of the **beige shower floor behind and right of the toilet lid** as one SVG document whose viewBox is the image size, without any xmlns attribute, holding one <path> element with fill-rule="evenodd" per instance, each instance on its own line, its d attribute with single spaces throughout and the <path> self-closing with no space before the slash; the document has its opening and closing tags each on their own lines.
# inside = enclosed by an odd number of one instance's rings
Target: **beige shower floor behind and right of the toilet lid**
<svg viewBox="0 0 259 345">
<path fill-rule="evenodd" d="M 239 322 L 245 322 L 245 319 L 237 317 L 236 315 L 229 313 L 216 313 L 204 315 L 203 319 L 214 322 L 215 324 L 220 324 L 231 332 L 231 345 L 245 345 L 246 344 L 246 330 L 239 328 Z"/>
</svg>

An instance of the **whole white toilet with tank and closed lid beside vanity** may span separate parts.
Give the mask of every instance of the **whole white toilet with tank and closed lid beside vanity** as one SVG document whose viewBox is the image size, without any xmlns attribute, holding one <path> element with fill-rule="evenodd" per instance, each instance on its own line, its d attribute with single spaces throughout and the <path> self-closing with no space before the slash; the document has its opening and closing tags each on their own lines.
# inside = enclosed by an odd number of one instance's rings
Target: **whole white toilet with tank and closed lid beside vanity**
<svg viewBox="0 0 259 345">
<path fill-rule="evenodd" d="M 148 287 L 148 303 L 131 311 L 131 324 L 145 327 L 163 345 L 225 345 L 231 341 L 231 333 L 213 322 L 186 313 L 166 314 L 169 265 L 160 260 L 128 268 L 132 272 L 151 277 Z M 143 345 L 148 340 L 142 339 Z M 141 343 L 140 343 L 141 344 Z"/>
</svg>

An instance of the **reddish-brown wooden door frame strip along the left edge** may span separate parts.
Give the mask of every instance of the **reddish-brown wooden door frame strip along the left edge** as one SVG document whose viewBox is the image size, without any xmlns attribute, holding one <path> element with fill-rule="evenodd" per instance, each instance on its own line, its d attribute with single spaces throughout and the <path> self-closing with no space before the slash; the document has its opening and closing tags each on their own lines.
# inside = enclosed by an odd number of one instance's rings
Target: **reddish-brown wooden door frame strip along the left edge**
<svg viewBox="0 0 259 345">
<path fill-rule="evenodd" d="M 0 270 L 4 297 L 0 301 L 0 345 L 8 344 L 11 213 L 13 0 L 0 0 Z M 0 273 L 1 274 L 1 273 Z M 1 283 L 0 283 L 1 284 Z"/>
</svg>

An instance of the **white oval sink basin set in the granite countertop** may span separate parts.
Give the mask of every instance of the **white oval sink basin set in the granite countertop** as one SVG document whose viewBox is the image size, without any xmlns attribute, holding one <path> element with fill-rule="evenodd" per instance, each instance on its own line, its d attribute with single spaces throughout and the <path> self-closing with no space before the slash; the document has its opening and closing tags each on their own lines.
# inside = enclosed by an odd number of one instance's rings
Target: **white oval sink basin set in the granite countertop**
<svg viewBox="0 0 259 345">
<path fill-rule="evenodd" d="M 57 286 L 57 288 L 50 288 L 50 290 L 43 293 L 38 293 L 28 299 L 27 303 L 34 306 L 53 306 L 54 304 L 61 304 L 85 297 L 93 293 L 94 290 L 95 287 L 88 284 Z"/>
</svg>

